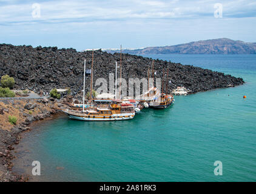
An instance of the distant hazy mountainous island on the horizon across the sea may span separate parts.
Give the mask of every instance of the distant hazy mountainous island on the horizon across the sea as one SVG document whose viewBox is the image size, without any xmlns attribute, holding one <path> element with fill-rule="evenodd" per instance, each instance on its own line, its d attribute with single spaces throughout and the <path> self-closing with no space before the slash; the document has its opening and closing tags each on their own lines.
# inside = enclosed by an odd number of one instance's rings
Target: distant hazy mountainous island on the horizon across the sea
<svg viewBox="0 0 256 194">
<path fill-rule="evenodd" d="M 120 52 L 118 49 L 103 49 L 108 53 Z M 146 47 L 143 49 L 124 49 L 123 53 L 131 55 L 156 55 L 156 54 L 210 54 L 210 55 L 235 55 L 256 54 L 256 42 L 234 41 L 228 38 L 195 41 L 164 47 Z"/>
</svg>

